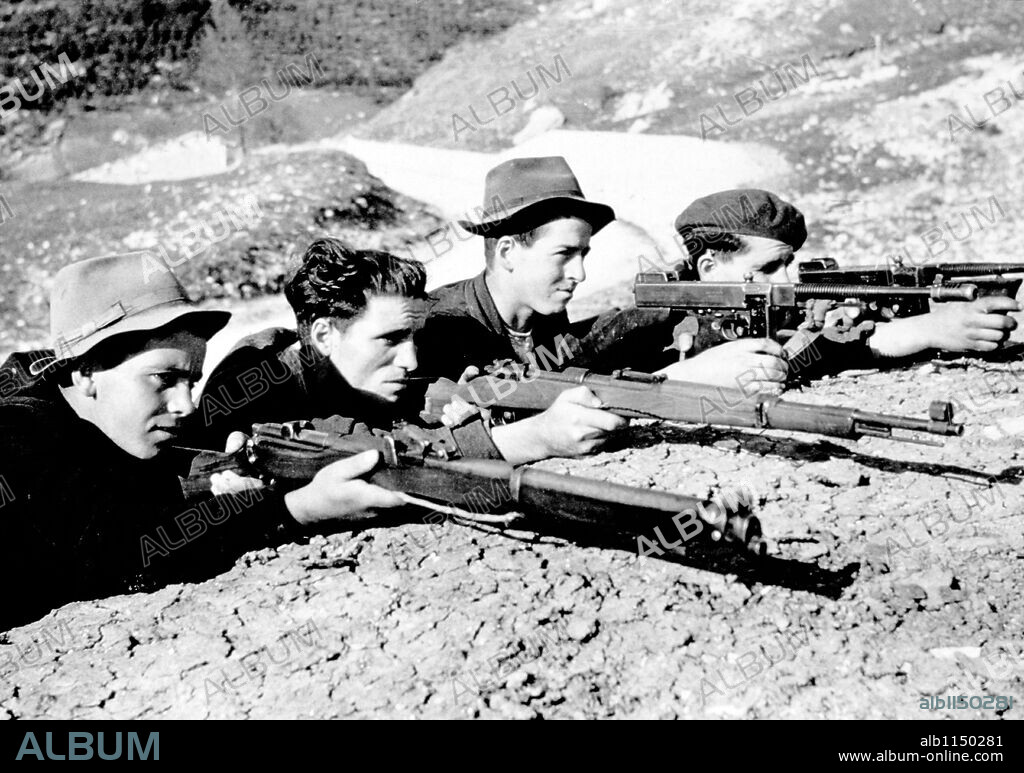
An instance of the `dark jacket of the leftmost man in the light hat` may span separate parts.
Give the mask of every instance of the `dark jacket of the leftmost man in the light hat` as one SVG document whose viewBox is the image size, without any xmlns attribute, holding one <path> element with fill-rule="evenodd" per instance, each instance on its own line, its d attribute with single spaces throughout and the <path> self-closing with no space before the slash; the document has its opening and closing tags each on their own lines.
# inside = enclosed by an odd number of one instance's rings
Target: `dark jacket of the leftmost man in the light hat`
<svg viewBox="0 0 1024 773">
<path fill-rule="evenodd" d="M 12 355 L 2 372 L 24 358 Z M 183 461 L 126 454 L 46 376 L 0 399 L 0 629 L 70 601 L 209 577 L 246 550 L 301 535 L 266 491 L 186 507 Z"/>
</svg>

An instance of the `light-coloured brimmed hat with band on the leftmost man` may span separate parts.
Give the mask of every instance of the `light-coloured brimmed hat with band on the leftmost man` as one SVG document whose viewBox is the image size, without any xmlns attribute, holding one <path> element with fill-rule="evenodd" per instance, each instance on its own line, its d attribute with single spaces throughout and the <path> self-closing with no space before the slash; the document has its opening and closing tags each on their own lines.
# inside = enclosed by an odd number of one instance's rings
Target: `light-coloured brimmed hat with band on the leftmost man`
<svg viewBox="0 0 1024 773">
<path fill-rule="evenodd" d="M 53 355 L 36 360 L 33 375 L 82 356 L 125 333 L 184 320 L 209 338 L 231 314 L 189 300 L 163 257 L 154 251 L 118 253 L 72 263 L 57 271 L 50 292 Z"/>
</svg>

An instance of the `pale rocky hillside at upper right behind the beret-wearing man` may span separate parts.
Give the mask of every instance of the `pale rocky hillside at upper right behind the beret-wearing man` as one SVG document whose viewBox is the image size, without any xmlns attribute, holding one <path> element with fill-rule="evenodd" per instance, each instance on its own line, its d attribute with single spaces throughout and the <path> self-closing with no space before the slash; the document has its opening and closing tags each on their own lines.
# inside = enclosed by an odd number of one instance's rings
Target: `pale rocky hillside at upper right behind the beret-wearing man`
<svg viewBox="0 0 1024 773">
<path fill-rule="evenodd" d="M 1022 22 L 1024 7 L 995 0 L 564 0 L 453 48 L 361 135 L 508 148 L 543 106 L 566 129 L 761 142 L 794 170 L 774 186 L 808 218 L 805 253 L 1013 259 L 1024 253 Z M 994 117 L 984 95 L 999 87 Z M 969 126 L 965 105 L 984 126 Z M 664 242 L 671 220 L 662 227 Z"/>
</svg>

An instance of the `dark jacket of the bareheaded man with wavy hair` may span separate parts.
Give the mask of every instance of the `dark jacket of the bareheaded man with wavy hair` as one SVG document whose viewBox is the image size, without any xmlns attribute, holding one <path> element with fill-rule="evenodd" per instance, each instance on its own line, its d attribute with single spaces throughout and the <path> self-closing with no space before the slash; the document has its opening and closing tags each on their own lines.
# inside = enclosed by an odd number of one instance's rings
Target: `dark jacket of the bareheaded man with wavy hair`
<svg viewBox="0 0 1024 773">
<path fill-rule="evenodd" d="M 195 415 L 194 442 L 222 450 L 234 431 L 252 425 L 343 416 L 371 428 L 390 429 L 395 421 L 417 423 L 423 391 L 410 389 L 397 404 L 377 402 L 352 389 L 331 360 L 309 347 L 295 347 L 298 335 L 270 328 L 248 336 L 214 369 Z M 464 457 L 501 459 L 479 419 L 454 430 Z"/>
</svg>

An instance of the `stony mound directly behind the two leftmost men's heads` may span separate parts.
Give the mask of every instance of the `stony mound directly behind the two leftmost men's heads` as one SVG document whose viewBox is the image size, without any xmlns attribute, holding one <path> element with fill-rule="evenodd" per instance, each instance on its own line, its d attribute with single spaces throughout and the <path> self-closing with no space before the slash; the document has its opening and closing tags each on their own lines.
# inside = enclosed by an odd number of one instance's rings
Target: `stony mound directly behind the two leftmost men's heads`
<svg viewBox="0 0 1024 773">
<path fill-rule="evenodd" d="M 0 351 L 44 343 L 53 274 L 76 260 L 155 250 L 193 297 L 246 299 L 279 293 L 317 237 L 397 250 L 440 222 L 338 152 L 255 156 L 225 174 L 178 182 L 7 191 L 14 217 L 0 241 Z"/>
</svg>

